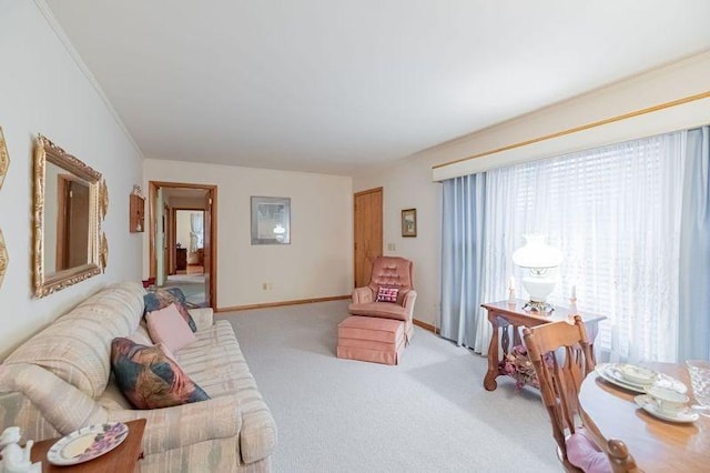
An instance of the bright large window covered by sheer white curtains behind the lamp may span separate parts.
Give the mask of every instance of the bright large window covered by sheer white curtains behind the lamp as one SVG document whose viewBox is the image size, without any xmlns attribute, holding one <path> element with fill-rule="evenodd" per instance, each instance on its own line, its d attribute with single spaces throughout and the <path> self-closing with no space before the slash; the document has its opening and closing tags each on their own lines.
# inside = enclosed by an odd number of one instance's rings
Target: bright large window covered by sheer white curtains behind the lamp
<svg viewBox="0 0 710 473">
<path fill-rule="evenodd" d="M 608 316 L 600 359 L 674 361 L 677 349 L 681 132 L 488 171 L 484 300 L 506 299 L 523 273 L 510 255 L 523 234 L 562 250 L 549 298 Z"/>
</svg>

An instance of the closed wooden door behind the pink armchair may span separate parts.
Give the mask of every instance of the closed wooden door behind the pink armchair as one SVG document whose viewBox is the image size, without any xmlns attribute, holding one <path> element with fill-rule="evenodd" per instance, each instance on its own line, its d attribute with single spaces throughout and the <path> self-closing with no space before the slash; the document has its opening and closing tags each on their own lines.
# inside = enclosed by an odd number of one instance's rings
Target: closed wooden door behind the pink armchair
<svg viewBox="0 0 710 473">
<path fill-rule="evenodd" d="M 355 194 L 355 288 L 369 283 L 375 258 L 382 255 L 382 188 Z"/>
</svg>

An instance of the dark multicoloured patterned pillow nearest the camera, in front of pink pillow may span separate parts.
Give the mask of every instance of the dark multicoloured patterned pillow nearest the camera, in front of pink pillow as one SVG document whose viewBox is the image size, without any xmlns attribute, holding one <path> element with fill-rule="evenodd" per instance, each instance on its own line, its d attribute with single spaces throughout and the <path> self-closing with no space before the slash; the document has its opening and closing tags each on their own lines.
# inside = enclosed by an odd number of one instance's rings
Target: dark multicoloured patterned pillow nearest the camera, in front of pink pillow
<svg viewBox="0 0 710 473">
<path fill-rule="evenodd" d="M 160 345 L 113 339 L 111 366 L 119 389 L 136 409 L 160 409 L 210 399 Z"/>
</svg>

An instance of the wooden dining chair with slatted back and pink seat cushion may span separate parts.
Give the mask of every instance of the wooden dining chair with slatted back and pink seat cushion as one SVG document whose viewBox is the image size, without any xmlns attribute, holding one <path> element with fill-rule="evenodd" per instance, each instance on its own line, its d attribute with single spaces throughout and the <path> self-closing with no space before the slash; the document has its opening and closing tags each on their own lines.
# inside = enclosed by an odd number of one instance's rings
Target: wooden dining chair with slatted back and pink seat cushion
<svg viewBox="0 0 710 473">
<path fill-rule="evenodd" d="M 595 368 L 581 318 L 575 315 L 574 324 L 559 321 L 525 328 L 523 333 L 528 355 L 538 376 L 542 403 L 552 424 L 557 456 L 565 470 L 584 471 L 570 463 L 568 456 L 568 449 L 577 451 L 580 444 L 588 444 L 589 452 L 595 453 L 592 456 L 596 463 L 606 463 L 606 454 L 590 435 L 580 431 L 579 388 L 587 373 Z M 552 355 L 547 355 L 548 353 Z"/>
</svg>

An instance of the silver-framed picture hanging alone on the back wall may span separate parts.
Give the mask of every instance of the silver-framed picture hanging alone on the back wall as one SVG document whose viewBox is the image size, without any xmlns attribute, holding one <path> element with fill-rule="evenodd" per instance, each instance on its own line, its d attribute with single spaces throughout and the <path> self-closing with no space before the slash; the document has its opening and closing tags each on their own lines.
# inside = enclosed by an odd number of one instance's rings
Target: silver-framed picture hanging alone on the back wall
<svg viewBox="0 0 710 473">
<path fill-rule="evenodd" d="M 291 243 L 291 198 L 252 197 L 252 244 Z"/>
</svg>

